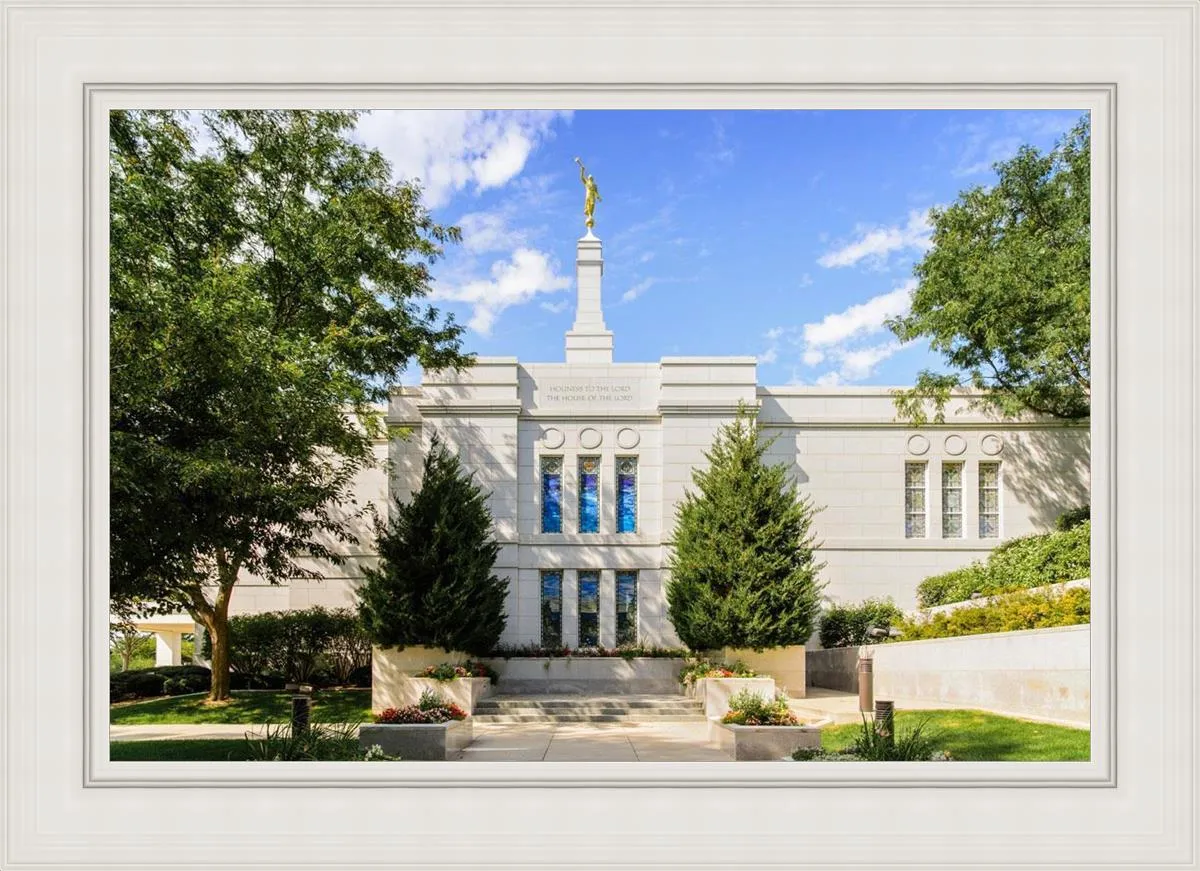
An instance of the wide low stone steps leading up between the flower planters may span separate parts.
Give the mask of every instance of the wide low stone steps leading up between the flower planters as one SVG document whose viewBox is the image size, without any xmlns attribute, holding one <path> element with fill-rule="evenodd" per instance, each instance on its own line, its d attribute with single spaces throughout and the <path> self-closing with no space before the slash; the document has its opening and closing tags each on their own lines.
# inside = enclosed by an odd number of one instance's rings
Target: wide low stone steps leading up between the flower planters
<svg viewBox="0 0 1200 871">
<path fill-rule="evenodd" d="M 703 722 L 685 696 L 488 696 L 475 703 L 476 725 Z"/>
</svg>

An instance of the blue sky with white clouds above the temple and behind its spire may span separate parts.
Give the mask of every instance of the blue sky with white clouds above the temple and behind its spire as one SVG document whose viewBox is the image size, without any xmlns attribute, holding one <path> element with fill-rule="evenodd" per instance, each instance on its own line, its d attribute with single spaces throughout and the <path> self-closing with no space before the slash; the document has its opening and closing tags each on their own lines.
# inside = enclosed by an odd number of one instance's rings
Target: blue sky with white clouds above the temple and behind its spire
<svg viewBox="0 0 1200 871">
<path fill-rule="evenodd" d="M 481 355 L 560 361 L 584 232 L 574 157 L 602 202 L 604 307 L 618 362 L 750 354 L 761 384 L 911 383 L 899 347 L 926 212 L 1046 150 L 1079 112 L 374 112 L 359 136 L 463 229 L 438 305 Z M 419 372 L 408 373 L 414 382 Z"/>
</svg>

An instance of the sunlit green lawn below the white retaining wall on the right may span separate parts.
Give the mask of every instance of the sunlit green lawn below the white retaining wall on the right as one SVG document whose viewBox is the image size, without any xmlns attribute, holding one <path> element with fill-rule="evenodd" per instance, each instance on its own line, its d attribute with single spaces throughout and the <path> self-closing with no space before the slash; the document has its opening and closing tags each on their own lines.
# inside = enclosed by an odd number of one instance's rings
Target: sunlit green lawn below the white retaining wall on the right
<svg viewBox="0 0 1200 871">
<path fill-rule="evenodd" d="M 940 750 L 968 762 L 1087 762 L 1091 733 L 1067 726 L 985 714 L 978 710 L 896 713 L 896 728 L 925 720 L 928 732 L 941 732 Z M 844 750 L 858 737 L 862 723 L 830 726 L 821 732 L 823 750 Z"/>
</svg>

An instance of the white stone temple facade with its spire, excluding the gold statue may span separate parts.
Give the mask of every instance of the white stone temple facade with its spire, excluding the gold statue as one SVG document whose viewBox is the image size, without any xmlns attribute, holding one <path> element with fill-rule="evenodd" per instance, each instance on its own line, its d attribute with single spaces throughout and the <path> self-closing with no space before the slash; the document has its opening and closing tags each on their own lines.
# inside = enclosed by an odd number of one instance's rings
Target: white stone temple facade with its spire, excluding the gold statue
<svg viewBox="0 0 1200 871">
<path fill-rule="evenodd" d="M 577 572 L 600 572 L 600 643 L 616 643 L 616 572 L 637 571 L 637 636 L 676 644 L 666 618 L 667 541 L 676 504 L 704 463 L 719 427 L 739 402 L 758 409 L 775 437 L 769 457 L 787 464 L 802 493 L 821 507 L 815 533 L 827 563 L 832 601 L 890 596 L 912 607 L 925 577 L 983 558 L 1001 540 L 1048 529 L 1062 511 L 1088 499 L 1085 426 L 996 420 L 955 400 L 947 422 L 898 422 L 887 388 L 768 388 L 749 356 L 662 358 L 612 362 L 612 334 L 600 307 L 600 241 L 578 244 L 578 311 L 566 334 L 565 362 L 484 358 L 461 374 L 426 373 L 420 386 L 396 388 L 388 424 L 403 427 L 386 451 L 391 474 L 365 473 L 361 501 L 386 510 L 408 499 L 436 431 L 491 493 L 497 572 L 509 579 L 504 641 L 539 643 L 544 570 L 562 570 L 562 642 L 578 643 Z M 600 461 L 600 527 L 578 531 L 577 469 Z M 541 530 L 542 457 L 562 457 L 560 533 Z M 636 531 L 618 533 L 616 462 L 637 459 Z M 906 463 L 925 464 L 925 531 L 906 536 Z M 942 467 L 960 463 L 961 536 L 942 535 Z M 1000 464 L 998 537 L 980 537 L 980 463 Z M 911 506 L 910 506 L 911 507 Z M 365 542 L 371 537 L 362 530 Z M 247 578 L 233 613 L 311 605 L 352 606 L 370 545 L 322 582 L 283 587 Z"/>
</svg>

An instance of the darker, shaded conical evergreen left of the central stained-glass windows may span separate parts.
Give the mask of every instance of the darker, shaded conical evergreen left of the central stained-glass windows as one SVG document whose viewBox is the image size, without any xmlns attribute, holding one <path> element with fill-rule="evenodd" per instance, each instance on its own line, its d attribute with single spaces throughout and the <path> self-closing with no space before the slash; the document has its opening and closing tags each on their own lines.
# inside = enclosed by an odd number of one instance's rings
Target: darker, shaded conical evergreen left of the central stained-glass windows
<svg viewBox="0 0 1200 871">
<path fill-rule="evenodd" d="M 492 573 L 500 546 L 486 494 L 437 437 L 421 488 L 408 504 L 397 499 L 376 533 L 379 565 L 359 588 L 371 641 L 490 653 L 505 624 L 508 582 Z"/>
</svg>

